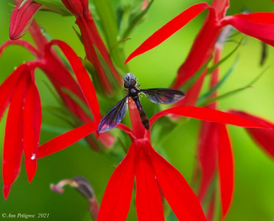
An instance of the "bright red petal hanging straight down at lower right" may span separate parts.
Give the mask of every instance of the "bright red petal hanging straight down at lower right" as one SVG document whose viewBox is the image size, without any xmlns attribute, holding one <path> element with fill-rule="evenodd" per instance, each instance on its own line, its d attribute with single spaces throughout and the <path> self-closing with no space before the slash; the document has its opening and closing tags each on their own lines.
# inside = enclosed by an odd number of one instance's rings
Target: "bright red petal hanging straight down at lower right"
<svg viewBox="0 0 274 221">
<path fill-rule="evenodd" d="M 234 193 L 234 158 L 225 125 L 219 124 L 219 179 L 221 189 L 222 219 L 225 219 Z"/>
</svg>

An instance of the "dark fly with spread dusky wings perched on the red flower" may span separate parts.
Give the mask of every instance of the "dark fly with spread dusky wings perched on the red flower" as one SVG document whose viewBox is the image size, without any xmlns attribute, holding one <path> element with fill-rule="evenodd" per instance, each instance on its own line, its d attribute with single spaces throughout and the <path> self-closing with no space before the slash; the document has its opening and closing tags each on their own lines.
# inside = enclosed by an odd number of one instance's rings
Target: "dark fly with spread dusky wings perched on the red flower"
<svg viewBox="0 0 274 221">
<path fill-rule="evenodd" d="M 127 112 L 128 98 L 134 100 L 142 125 L 149 130 L 149 119 L 142 109 L 140 104 L 139 94 L 143 93 L 149 100 L 156 104 L 172 104 L 184 98 L 184 92 L 175 89 L 140 89 L 140 84 L 136 82 L 136 77 L 133 73 L 126 73 L 124 76 L 124 87 L 127 95 L 118 102 L 108 113 L 101 119 L 98 126 L 98 132 L 108 131 L 117 126 L 125 113 Z"/>
</svg>

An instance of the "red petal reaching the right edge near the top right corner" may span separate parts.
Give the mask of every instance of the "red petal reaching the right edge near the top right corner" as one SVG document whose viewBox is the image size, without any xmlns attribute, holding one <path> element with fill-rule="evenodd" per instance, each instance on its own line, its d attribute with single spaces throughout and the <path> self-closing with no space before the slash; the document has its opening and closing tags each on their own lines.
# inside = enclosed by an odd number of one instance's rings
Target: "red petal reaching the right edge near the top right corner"
<svg viewBox="0 0 274 221">
<path fill-rule="evenodd" d="M 251 14 L 236 14 L 227 16 L 222 25 L 233 25 L 237 30 L 264 43 L 274 46 L 274 13 L 257 12 Z"/>
</svg>

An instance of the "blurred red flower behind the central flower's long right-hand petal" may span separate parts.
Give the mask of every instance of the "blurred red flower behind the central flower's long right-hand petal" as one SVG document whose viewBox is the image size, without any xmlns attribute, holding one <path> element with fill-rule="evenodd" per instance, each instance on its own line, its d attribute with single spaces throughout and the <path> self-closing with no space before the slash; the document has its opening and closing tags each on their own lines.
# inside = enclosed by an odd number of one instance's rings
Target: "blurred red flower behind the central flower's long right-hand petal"
<svg viewBox="0 0 274 221">
<path fill-rule="evenodd" d="M 221 50 L 227 35 L 229 34 L 229 27 L 223 30 L 222 37 L 219 38 L 215 45 L 214 63 L 220 60 Z M 210 88 L 212 89 L 219 82 L 219 67 L 216 68 L 211 75 Z M 216 96 L 216 92 L 212 97 Z M 216 109 L 217 102 L 208 105 L 208 108 Z M 245 119 L 249 119 L 258 124 L 265 125 L 269 129 L 262 128 L 246 128 L 251 137 L 273 158 L 274 156 L 274 125 L 247 113 L 236 110 L 229 110 L 229 113 L 238 115 Z M 214 178 L 214 174 L 219 172 L 219 185 L 221 191 L 221 208 L 222 219 L 227 215 L 232 198 L 234 194 L 234 156 L 232 145 L 229 141 L 227 128 L 221 124 L 203 122 L 201 124 L 199 145 L 199 164 L 201 169 L 201 183 L 198 191 L 198 198 L 203 202 L 208 189 Z M 212 195 L 212 200 L 216 198 L 216 194 Z M 210 203 L 208 207 L 208 220 L 212 220 L 212 210 L 214 210 L 214 203 Z M 211 217 L 211 218 L 210 218 Z"/>
</svg>

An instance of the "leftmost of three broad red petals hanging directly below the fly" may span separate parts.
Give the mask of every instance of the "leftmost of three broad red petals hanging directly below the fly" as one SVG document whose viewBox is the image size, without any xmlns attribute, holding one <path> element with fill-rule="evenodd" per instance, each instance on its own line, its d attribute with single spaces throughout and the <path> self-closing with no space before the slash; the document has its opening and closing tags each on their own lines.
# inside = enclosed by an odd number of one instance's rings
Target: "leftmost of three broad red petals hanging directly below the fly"
<svg viewBox="0 0 274 221">
<path fill-rule="evenodd" d="M 98 221 L 123 221 L 127 218 L 135 175 L 135 148 L 132 143 L 127 155 L 110 177 L 103 194 Z"/>
</svg>

